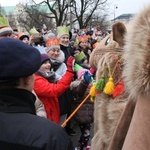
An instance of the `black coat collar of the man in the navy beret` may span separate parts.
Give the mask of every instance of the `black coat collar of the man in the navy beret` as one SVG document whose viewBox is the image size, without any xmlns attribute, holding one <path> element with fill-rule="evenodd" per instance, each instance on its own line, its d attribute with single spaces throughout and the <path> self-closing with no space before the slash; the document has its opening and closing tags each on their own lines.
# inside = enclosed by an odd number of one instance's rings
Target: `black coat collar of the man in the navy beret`
<svg viewBox="0 0 150 150">
<path fill-rule="evenodd" d="M 0 111 L 6 113 L 35 113 L 36 97 L 24 89 L 0 89 Z"/>
</svg>

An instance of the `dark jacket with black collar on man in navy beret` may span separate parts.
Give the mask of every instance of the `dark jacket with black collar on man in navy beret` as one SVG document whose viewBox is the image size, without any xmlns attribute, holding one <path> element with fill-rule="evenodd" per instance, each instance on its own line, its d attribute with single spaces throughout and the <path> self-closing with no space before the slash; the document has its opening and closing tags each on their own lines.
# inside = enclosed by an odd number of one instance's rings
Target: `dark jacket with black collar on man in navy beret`
<svg viewBox="0 0 150 150">
<path fill-rule="evenodd" d="M 0 149 L 73 150 L 61 127 L 35 115 L 34 102 L 27 90 L 0 90 Z"/>
</svg>

